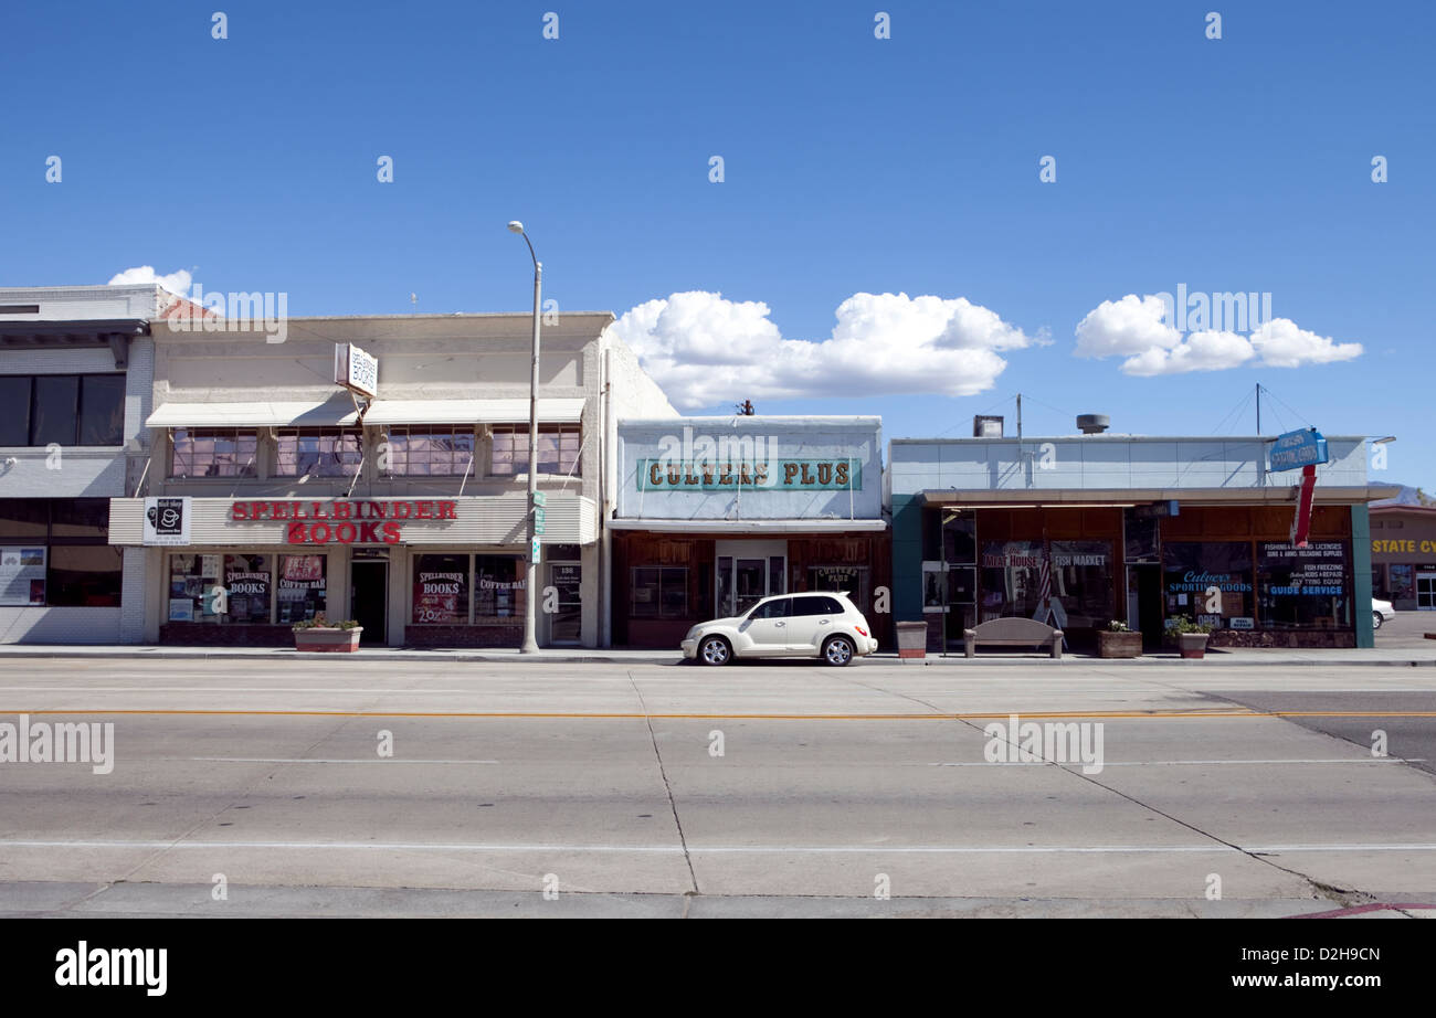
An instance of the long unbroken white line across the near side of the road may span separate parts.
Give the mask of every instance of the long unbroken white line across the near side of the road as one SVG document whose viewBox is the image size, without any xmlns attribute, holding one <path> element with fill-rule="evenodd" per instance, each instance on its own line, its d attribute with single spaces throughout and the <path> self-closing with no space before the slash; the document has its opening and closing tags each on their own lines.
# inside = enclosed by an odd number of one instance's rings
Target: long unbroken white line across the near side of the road
<svg viewBox="0 0 1436 1018">
<path fill-rule="evenodd" d="M 577 854 L 682 854 L 681 844 L 484 844 L 484 843 L 437 843 L 437 841 L 118 841 L 118 840 L 0 840 L 4 849 L 279 849 L 279 850 L 358 850 L 358 851 L 477 851 L 518 853 L 551 851 Z M 985 856 L 985 854 L 1193 854 L 1193 853 L 1258 853 L 1285 854 L 1298 851 L 1436 851 L 1436 844 L 1268 844 L 1232 849 L 1225 844 L 1113 844 L 1113 846 L 747 846 L 747 844 L 689 844 L 688 851 L 714 856 Z"/>
</svg>

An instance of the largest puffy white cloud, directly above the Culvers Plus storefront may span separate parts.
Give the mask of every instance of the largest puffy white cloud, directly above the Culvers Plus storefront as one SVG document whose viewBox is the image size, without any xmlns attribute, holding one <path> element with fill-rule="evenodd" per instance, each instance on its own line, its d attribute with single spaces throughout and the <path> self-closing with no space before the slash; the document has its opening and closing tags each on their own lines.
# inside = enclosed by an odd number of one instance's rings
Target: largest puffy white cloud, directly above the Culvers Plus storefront
<svg viewBox="0 0 1436 1018">
<path fill-rule="evenodd" d="M 998 350 L 1047 342 L 964 297 L 854 293 L 830 339 L 784 339 L 763 302 L 692 290 L 649 300 L 615 324 L 682 409 L 740 399 L 941 393 L 992 388 Z"/>
</svg>

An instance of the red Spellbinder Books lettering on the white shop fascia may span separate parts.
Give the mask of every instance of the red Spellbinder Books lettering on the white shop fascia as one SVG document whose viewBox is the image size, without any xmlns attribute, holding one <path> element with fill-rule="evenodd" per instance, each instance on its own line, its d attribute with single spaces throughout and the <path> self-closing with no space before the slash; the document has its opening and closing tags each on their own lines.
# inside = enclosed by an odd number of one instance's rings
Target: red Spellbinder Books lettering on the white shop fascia
<svg viewBox="0 0 1436 1018">
<path fill-rule="evenodd" d="M 231 523 L 284 521 L 290 544 L 398 544 L 418 520 L 457 520 L 457 501 L 439 498 L 258 501 L 230 504 Z"/>
</svg>

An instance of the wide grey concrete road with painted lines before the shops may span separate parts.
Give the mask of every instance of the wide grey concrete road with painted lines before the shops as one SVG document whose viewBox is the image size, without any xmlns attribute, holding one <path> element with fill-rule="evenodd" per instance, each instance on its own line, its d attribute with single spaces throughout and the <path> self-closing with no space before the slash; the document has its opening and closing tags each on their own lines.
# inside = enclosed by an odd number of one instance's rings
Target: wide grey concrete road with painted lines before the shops
<svg viewBox="0 0 1436 1018">
<path fill-rule="evenodd" d="M 0 762 L 4 915 L 1436 910 L 1433 668 L 0 663 L 22 712 L 113 770 Z"/>
</svg>

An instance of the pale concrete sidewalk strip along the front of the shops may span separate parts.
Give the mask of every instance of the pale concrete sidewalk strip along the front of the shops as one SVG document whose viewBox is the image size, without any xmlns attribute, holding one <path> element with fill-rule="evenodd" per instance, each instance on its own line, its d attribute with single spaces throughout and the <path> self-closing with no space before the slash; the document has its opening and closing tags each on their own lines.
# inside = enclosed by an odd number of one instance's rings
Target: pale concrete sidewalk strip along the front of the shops
<svg viewBox="0 0 1436 1018">
<path fill-rule="evenodd" d="M 323 662 L 375 662 L 375 660 L 428 660 L 428 662 L 477 662 L 514 665 L 684 665 L 678 650 L 626 650 L 606 648 L 546 648 L 538 653 L 518 653 L 511 648 L 484 649 L 393 649 L 360 648 L 353 653 L 304 653 L 293 648 L 202 648 L 202 646 L 155 646 L 155 645 L 53 645 L 53 643 L 0 643 L 0 665 L 7 660 L 26 659 L 162 659 L 162 660 L 299 660 L 304 663 Z M 773 663 L 773 662 L 768 662 Z M 797 662 L 796 662 L 797 663 Z M 1427 648 L 1376 648 L 1370 650 L 1292 650 L 1292 649 L 1226 649 L 1208 650 L 1205 660 L 1183 660 L 1176 652 L 1147 653 L 1132 659 L 1100 659 L 1090 655 L 1064 655 L 1051 660 L 1045 653 L 1004 652 L 979 653 L 971 660 L 962 652 L 946 655 L 929 653 L 925 665 L 932 666 L 976 666 L 998 665 L 1025 669 L 1063 668 L 1080 665 L 1086 668 L 1142 668 L 1146 665 L 1172 665 L 1183 668 L 1206 666 L 1370 666 L 1396 668 L 1436 666 L 1436 642 Z M 899 665 L 895 652 L 879 652 L 857 662 L 859 668 L 875 665 Z"/>
</svg>

